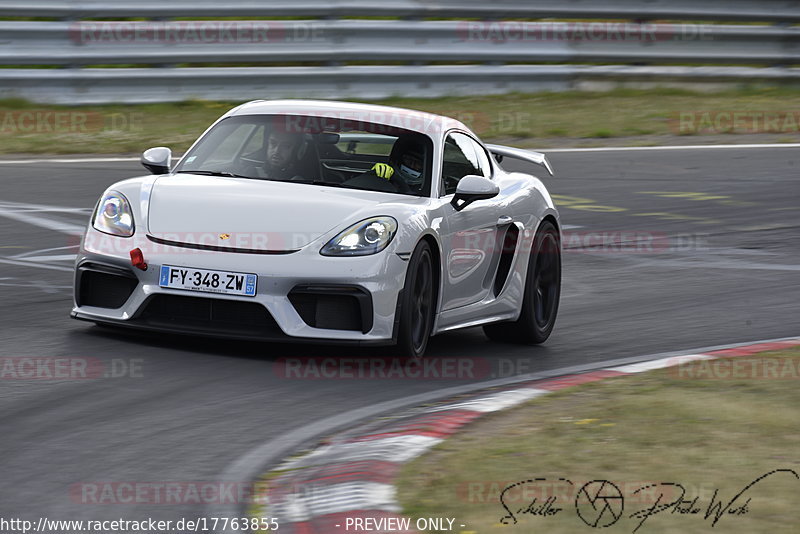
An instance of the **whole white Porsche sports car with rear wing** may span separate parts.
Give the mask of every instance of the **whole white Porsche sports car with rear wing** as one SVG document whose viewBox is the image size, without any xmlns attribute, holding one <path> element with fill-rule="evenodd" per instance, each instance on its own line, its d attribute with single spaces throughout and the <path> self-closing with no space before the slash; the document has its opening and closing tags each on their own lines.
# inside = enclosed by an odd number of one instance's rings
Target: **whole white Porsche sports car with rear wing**
<svg viewBox="0 0 800 534">
<path fill-rule="evenodd" d="M 482 325 L 541 343 L 561 285 L 559 216 L 539 179 L 460 122 L 399 108 L 255 101 L 181 158 L 100 197 L 72 317 L 184 334 L 395 344 Z"/>
</svg>

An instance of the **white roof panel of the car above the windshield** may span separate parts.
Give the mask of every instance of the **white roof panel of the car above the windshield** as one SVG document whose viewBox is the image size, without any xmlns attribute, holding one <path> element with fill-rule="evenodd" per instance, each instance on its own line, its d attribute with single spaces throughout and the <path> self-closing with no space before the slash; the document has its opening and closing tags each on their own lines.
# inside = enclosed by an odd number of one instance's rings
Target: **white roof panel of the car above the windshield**
<svg viewBox="0 0 800 534">
<path fill-rule="evenodd" d="M 441 138 L 452 129 L 470 132 L 461 121 L 443 115 L 393 106 L 333 100 L 254 100 L 232 109 L 226 116 L 260 114 L 322 116 L 385 124 L 420 132 L 434 139 Z"/>
</svg>

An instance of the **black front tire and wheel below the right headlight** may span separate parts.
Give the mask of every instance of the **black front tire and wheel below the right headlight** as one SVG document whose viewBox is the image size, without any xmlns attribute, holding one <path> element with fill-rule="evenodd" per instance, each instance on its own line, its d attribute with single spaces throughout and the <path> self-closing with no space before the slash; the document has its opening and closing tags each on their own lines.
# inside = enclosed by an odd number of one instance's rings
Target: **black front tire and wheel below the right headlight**
<svg viewBox="0 0 800 534">
<path fill-rule="evenodd" d="M 426 241 L 420 241 L 411 255 L 403 286 L 397 350 L 400 356 L 421 358 L 433 328 L 434 307 L 433 253 Z"/>
</svg>

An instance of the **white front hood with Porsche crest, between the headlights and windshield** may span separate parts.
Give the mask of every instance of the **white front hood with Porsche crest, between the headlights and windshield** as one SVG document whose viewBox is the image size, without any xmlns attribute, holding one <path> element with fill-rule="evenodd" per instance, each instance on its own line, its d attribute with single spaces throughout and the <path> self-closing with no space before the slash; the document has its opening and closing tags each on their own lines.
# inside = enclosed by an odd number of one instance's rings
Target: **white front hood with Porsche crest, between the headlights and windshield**
<svg viewBox="0 0 800 534">
<path fill-rule="evenodd" d="M 184 244 L 298 250 L 397 195 L 291 182 L 179 174 L 153 186 L 150 235 Z M 356 218 L 354 218 L 356 217 Z"/>
</svg>

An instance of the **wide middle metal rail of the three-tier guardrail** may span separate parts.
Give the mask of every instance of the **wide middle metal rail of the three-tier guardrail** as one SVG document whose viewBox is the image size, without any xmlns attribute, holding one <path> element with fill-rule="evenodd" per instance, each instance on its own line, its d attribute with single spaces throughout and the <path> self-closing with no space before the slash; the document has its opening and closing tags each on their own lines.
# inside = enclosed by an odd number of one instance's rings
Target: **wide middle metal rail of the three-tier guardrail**
<svg viewBox="0 0 800 534">
<path fill-rule="evenodd" d="M 800 26 L 403 20 L 0 22 L 3 65 L 800 63 Z"/>
</svg>

